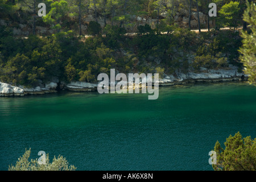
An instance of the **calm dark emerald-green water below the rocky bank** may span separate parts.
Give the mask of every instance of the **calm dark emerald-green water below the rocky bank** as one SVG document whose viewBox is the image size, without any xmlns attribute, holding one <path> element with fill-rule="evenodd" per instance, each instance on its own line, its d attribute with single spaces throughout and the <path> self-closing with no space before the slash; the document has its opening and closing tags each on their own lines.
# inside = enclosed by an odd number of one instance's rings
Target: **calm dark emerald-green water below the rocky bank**
<svg viewBox="0 0 256 182">
<path fill-rule="evenodd" d="M 147 94 L 61 93 L 0 98 L 0 170 L 25 148 L 77 170 L 212 170 L 229 135 L 256 137 L 256 87 L 221 83 Z"/>
</svg>

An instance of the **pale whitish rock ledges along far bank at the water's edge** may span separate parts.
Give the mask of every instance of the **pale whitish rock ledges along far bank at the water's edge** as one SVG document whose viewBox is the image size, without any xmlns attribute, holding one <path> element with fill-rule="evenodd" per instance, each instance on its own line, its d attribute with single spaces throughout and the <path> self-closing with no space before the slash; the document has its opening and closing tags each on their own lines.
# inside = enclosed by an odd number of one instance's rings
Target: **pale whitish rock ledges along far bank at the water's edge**
<svg viewBox="0 0 256 182">
<path fill-rule="evenodd" d="M 237 67 L 230 65 L 229 69 L 205 69 L 201 68 L 200 73 L 188 72 L 178 73 L 174 75 L 164 74 L 164 78 L 159 79 L 159 86 L 172 86 L 178 84 L 188 84 L 192 82 L 220 82 L 220 81 L 246 81 L 247 75 L 238 73 Z M 49 82 L 48 84 L 36 86 L 35 88 L 26 88 L 24 86 L 12 86 L 0 82 L 0 97 L 1 96 L 26 96 L 28 94 L 46 94 L 56 93 L 61 90 L 71 92 L 91 92 L 97 90 L 96 83 L 89 82 Z"/>
</svg>

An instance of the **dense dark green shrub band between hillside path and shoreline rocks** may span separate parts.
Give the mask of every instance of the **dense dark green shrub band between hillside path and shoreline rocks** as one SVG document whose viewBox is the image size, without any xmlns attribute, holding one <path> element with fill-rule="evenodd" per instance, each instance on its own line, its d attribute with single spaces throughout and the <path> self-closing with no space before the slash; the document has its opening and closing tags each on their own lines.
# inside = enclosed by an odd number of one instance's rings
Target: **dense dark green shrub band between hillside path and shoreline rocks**
<svg viewBox="0 0 256 182">
<path fill-rule="evenodd" d="M 172 29 L 172 34 L 151 30 L 130 37 L 122 34 L 122 28 L 106 26 L 106 36 L 88 39 L 74 36 L 72 31 L 22 39 L 14 38 L 9 28 L 2 28 L 0 80 L 27 86 L 55 78 L 94 82 L 99 73 L 109 73 L 111 68 L 123 73 L 163 72 L 164 68 L 164 73 L 174 74 L 200 67 L 225 68 L 228 59 L 232 63 L 238 57 L 241 41 L 237 33 L 211 31 L 197 35 L 179 27 Z M 195 55 L 195 59 L 188 55 Z"/>
</svg>

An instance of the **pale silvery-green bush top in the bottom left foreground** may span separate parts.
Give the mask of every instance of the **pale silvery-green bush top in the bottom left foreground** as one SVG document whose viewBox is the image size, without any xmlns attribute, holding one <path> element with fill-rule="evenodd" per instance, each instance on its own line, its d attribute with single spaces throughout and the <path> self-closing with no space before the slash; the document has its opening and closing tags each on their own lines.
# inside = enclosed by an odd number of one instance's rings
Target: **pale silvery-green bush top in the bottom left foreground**
<svg viewBox="0 0 256 182">
<path fill-rule="evenodd" d="M 37 159 L 30 158 L 31 149 L 26 150 L 25 153 L 18 159 L 15 166 L 11 164 L 9 171 L 75 171 L 76 167 L 69 166 L 67 159 L 63 156 L 54 156 L 52 163 L 49 162 L 49 155 L 46 155 L 46 164 L 39 164 Z"/>
</svg>

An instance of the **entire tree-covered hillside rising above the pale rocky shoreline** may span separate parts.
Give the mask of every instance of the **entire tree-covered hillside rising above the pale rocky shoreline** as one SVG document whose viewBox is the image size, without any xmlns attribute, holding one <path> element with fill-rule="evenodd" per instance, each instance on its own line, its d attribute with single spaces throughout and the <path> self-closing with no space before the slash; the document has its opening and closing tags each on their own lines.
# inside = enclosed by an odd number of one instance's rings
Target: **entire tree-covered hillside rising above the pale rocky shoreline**
<svg viewBox="0 0 256 182">
<path fill-rule="evenodd" d="M 37 16 L 40 2 L 43 17 Z M 217 17 L 208 16 L 210 2 Z M 245 8 L 245 1 L 229 0 L 1 0 L 0 81 L 95 82 L 111 68 L 163 77 L 233 64 L 242 72 L 236 28 L 247 28 Z"/>
</svg>

